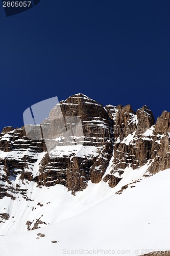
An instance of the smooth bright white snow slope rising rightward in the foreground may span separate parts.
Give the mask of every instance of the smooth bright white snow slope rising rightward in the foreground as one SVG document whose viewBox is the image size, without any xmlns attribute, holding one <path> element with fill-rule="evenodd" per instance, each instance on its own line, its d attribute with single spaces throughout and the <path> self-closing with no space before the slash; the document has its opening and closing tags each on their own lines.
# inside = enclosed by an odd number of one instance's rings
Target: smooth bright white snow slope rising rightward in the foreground
<svg viewBox="0 0 170 256">
<path fill-rule="evenodd" d="M 29 232 L 1 236 L 1 255 L 81 255 L 83 250 L 86 251 L 84 254 L 93 255 L 140 255 L 149 250 L 167 250 L 170 228 L 169 183 L 170 169 L 167 169 L 134 183 L 122 194 L 113 194 L 76 216 Z M 93 201 L 91 198 L 94 201 L 104 198 L 108 188 L 103 183 L 90 186 L 89 191 L 85 193 L 85 189 L 81 195 L 83 206 L 89 203 L 89 199 Z M 62 187 L 59 190 L 63 199 Z M 107 195 L 110 193 L 108 188 Z M 74 208 L 80 207 L 79 200 L 74 201 Z M 67 210 L 68 205 L 65 205 Z M 73 208 L 69 210 L 70 214 L 74 211 Z M 64 205 L 62 212 L 64 214 Z M 52 212 L 49 218 L 55 219 Z M 41 237 L 39 233 L 45 236 Z"/>
</svg>

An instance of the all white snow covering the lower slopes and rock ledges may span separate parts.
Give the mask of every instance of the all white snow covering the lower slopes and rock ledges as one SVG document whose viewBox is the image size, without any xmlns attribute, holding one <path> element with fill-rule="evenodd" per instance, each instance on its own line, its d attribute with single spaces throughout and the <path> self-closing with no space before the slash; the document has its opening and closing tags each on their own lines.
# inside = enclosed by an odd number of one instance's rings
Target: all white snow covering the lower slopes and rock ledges
<svg viewBox="0 0 170 256">
<path fill-rule="evenodd" d="M 91 104 L 91 102 L 86 103 Z M 114 115 L 115 113 L 113 117 Z M 132 122 L 137 124 L 136 115 L 131 115 Z M 106 127 L 102 120 L 91 120 L 88 123 Z M 152 140 L 153 131 L 154 125 L 143 133 L 145 137 L 141 139 Z M 170 133 L 168 135 L 170 136 Z M 163 136 L 158 135 L 156 142 L 160 143 Z M 89 138 L 96 139 L 87 137 Z M 1 137 L 1 140 L 3 139 L 10 140 L 10 136 Z M 63 137 L 59 137 L 56 141 L 62 139 Z M 121 143 L 129 145 L 135 139 L 134 132 L 124 138 Z M 16 141 L 27 143 L 27 140 L 22 139 Z M 120 139 L 118 138 L 116 142 L 120 142 Z M 82 144 L 56 146 L 50 154 L 61 158 L 71 154 L 81 158 L 97 157 L 101 148 Z M 31 171 L 33 177 L 36 177 L 45 152 L 35 153 L 30 149 L 12 152 L 0 150 L 1 159 L 22 161 L 25 155 L 37 159 L 25 169 L 25 171 Z M 105 175 L 111 174 L 113 160 L 114 155 L 110 159 Z M 67 191 L 63 185 L 38 187 L 36 182 L 28 180 L 22 182 L 19 175 L 16 178 L 10 177 L 11 184 L 1 181 L 2 187 L 8 188 L 10 194 L 12 194 L 10 187 L 14 187 L 15 194 L 12 195 L 16 197 L 15 201 L 9 197 L 0 200 L 1 212 L 10 216 L 9 220 L 0 217 L 1 255 L 60 256 L 65 252 L 70 254 L 70 250 L 75 252 L 79 249 L 87 251 L 111 249 L 115 252 L 129 250 L 128 255 L 137 255 L 142 254 L 142 248 L 169 249 L 170 169 L 146 178 L 145 175 L 148 174 L 147 169 L 151 163 L 148 161 L 147 164 L 136 169 L 126 167 L 122 175 L 117 170 L 114 176 L 122 180 L 114 188 L 109 187 L 108 182 L 105 183 L 103 180 L 98 184 L 89 181 L 87 188 L 76 192 L 76 196 Z M 3 166 L 0 167 L 3 168 Z M 44 172 L 48 168 L 50 167 L 47 167 Z M 96 168 L 100 169 L 100 166 Z M 55 167 L 50 169 L 58 171 Z M 14 172 L 21 172 L 21 169 L 14 169 Z M 1 169 L 1 175 L 4 174 L 5 171 Z M 16 184 L 20 186 L 19 189 L 25 189 L 26 196 L 17 193 Z M 122 190 L 122 187 L 127 184 L 130 184 L 128 188 Z M 119 194 L 116 194 L 117 192 Z M 26 200 L 26 197 L 29 200 Z M 27 221 L 33 222 L 31 224 L 33 228 L 39 218 L 46 224 L 41 224 L 39 229 L 28 232 Z M 37 233 L 40 232 L 45 234 L 45 237 L 37 239 Z M 52 243 L 54 240 L 58 243 Z M 136 254 L 134 249 L 138 250 Z M 75 252 L 75 254 L 81 253 Z M 103 254 L 108 253 L 101 251 L 98 253 L 98 255 Z M 122 254 L 125 253 L 122 252 Z"/>
</svg>

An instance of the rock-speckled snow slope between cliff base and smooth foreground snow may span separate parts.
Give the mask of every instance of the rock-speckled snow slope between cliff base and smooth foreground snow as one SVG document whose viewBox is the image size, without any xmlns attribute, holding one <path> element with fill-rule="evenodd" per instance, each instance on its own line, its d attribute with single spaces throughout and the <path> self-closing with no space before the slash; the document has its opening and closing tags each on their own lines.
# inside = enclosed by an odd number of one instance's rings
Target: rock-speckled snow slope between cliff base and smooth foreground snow
<svg viewBox="0 0 170 256">
<path fill-rule="evenodd" d="M 111 163 L 112 159 L 110 165 Z M 106 174 L 110 171 L 110 165 Z M 147 169 L 148 164 L 137 170 L 126 168 L 121 176 L 122 180 L 114 188 L 103 180 L 98 184 L 89 181 L 87 188 L 78 191 L 76 196 L 67 191 L 63 185 L 39 187 L 35 182 L 22 183 L 17 179 L 11 180 L 14 187 L 20 182 L 20 190 L 27 191 L 27 200 L 22 194 L 18 194 L 16 200 L 11 200 L 9 197 L 1 200 L 1 211 L 9 218 L 2 219 L 0 234 L 23 232 L 77 215 L 114 193 L 122 193 L 122 187 L 127 184 L 144 179 L 143 175 L 146 174 Z"/>
</svg>

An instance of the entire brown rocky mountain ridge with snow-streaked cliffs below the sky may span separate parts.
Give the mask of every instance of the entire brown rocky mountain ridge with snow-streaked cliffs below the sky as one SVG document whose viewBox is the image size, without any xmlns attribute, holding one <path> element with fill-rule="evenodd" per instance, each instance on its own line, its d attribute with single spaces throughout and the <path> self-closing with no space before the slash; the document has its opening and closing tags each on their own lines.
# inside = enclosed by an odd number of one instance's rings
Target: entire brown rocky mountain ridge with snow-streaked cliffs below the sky
<svg viewBox="0 0 170 256">
<path fill-rule="evenodd" d="M 170 168 L 170 113 L 164 111 L 156 123 L 152 111 L 144 105 L 136 112 L 130 105 L 106 105 L 79 93 L 60 101 L 49 113 L 55 118 L 60 106 L 63 117 L 79 117 L 83 136 L 72 135 L 71 145 L 57 144 L 50 157 L 43 138 L 30 139 L 25 127 L 5 127 L 0 135 L 0 225 L 9 219 L 15 221 L 10 205 L 27 202 L 32 212 L 43 208 L 42 202 L 34 205 L 31 187 L 63 185 L 76 196 L 89 183 L 116 187 L 128 169 L 142 169 L 140 177 L 126 181 L 117 189 L 122 191 L 132 183 Z M 69 123 L 70 120 L 70 123 Z M 47 125 L 47 121 L 44 124 Z M 71 125 L 71 118 L 67 119 Z M 71 137 L 71 136 L 70 136 Z M 79 147 L 79 150 L 77 148 Z M 57 152 L 57 153 L 56 153 Z M 31 206 L 30 206 L 31 205 Z M 26 212 L 23 214 L 26 215 Z M 36 218 L 27 216 L 26 230 L 48 224 L 38 212 Z M 12 223 L 12 222 L 11 222 Z M 5 228 L 3 229 L 5 230 Z M 24 228 L 21 230 L 25 230 Z"/>
</svg>

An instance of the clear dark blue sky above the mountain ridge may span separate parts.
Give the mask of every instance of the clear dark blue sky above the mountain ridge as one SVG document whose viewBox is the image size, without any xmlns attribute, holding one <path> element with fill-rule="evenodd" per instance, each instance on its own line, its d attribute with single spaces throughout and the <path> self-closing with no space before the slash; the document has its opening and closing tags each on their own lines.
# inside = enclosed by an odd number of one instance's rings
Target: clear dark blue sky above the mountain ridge
<svg viewBox="0 0 170 256">
<path fill-rule="evenodd" d="M 0 128 L 46 98 L 82 92 L 106 104 L 170 111 L 170 2 L 41 0 L 0 6 Z"/>
</svg>

